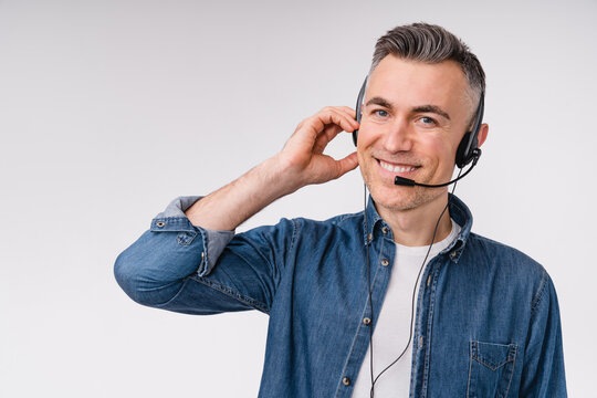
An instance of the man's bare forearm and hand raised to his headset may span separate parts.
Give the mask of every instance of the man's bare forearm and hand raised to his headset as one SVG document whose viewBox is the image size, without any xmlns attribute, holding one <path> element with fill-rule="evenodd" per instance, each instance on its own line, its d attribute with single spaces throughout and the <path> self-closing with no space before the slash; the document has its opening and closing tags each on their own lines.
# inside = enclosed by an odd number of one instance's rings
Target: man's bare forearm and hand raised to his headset
<svg viewBox="0 0 597 398">
<path fill-rule="evenodd" d="M 356 153 L 335 160 L 323 151 L 338 133 L 358 128 L 354 117 L 347 106 L 324 107 L 298 124 L 277 155 L 195 202 L 187 217 L 196 226 L 233 230 L 274 200 L 353 170 L 358 165 Z"/>
</svg>

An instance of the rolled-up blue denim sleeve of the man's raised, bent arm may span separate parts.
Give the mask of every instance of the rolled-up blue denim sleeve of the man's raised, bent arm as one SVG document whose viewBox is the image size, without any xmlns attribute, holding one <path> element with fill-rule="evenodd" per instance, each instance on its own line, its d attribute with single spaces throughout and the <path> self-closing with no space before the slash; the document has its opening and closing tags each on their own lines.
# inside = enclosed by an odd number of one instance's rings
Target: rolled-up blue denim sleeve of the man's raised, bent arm
<svg viewBox="0 0 597 398">
<path fill-rule="evenodd" d="M 201 197 L 178 197 L 116 259 L 114 274 L 135 302 L 187 314 L 269 312 L 292 238 L 289 223 L 235 235 L 193 226 L 185 211 Z"/>
</svg>

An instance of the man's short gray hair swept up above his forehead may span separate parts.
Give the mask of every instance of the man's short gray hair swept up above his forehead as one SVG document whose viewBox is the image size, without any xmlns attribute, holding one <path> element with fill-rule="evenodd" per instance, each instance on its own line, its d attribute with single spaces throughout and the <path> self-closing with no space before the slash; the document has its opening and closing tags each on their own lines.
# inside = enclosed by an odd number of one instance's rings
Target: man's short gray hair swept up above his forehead
<svg viewBox="0 0 597 398">
<path fill-rule="evenodd" d="M 369 75 L 388 54 L 425 63 L 455 61 L 469 82 L 474 102 L 485 92 L 485 73 L 467 44 L 446 29 L 429 23 L 396 27 L 377 40 Z"/>
</svg>

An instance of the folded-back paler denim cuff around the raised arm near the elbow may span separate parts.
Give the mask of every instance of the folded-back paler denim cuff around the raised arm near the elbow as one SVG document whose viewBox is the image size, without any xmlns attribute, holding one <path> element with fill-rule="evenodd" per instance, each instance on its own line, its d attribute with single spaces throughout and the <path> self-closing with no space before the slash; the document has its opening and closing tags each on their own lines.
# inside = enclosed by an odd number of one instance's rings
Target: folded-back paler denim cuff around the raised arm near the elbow
<svg viewBox="0 0 597 398">
<path fill-rule="evenodd" d="M 199 231 L 203 241 L 203 261 L 201 262 L 197 273 L 200 276 L 205 276 L 211 272 L 224 248 L 232 240 L 232 238 L 234 238 L 234 231 L 210 230 L 200 226 L 191 224 L 190 220 L 185 214 L 185 211 L 187 211 L 188 208 L 190 208 L 197 200 L 203 197 L 187 196 L 174 199 L 163 212 L 156 216 L 151 224 L 155 224 L 156 222 L 159 222 L 159 220 L 164 219 L 185 219 L 189 226 L 192 226 L 197 231 Z M 168 230 L 168 228 L 165 230 Z"/>
</svg>

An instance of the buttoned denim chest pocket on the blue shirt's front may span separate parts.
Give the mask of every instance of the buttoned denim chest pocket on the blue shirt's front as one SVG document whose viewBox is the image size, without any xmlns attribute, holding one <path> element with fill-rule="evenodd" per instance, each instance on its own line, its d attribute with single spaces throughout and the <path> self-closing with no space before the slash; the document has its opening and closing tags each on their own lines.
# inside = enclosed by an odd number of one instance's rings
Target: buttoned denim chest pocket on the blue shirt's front
<svg viewBox="0 0 597 398">
<path fill-rule="evenodd" d="M 471 341 L 468 398 L 505 398 L 516 360 L 516 344 Z"/>
</svg>

